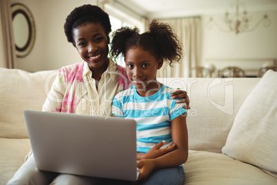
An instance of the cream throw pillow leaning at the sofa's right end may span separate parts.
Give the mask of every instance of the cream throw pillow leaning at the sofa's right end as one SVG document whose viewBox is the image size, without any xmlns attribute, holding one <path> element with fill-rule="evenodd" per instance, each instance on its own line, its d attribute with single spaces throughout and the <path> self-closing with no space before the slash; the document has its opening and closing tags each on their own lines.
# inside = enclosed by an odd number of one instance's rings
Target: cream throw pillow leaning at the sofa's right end
<svg viewBox="0 0 277 185">
<path fill-rule="evenodd" d="M 223 153 L 277 177 L 277 72 L 267 71 L 245 99 Z M 273 174 L 274 175 L 274 174 Z"/>
</svg>

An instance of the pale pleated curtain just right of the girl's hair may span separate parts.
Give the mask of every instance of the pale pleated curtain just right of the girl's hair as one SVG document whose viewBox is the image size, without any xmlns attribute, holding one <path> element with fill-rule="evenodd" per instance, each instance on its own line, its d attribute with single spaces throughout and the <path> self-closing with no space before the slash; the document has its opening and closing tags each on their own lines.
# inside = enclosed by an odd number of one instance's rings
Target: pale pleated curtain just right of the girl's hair
<svg viewBox="0 0 277 185">
<path fill-rule="evenodd" d="M 170 67 L 167 63 L 158 70 L 157 77 L 189 77 L 189 69 L 198 66 L 201 55 L 201 18 L 158 19 L 169 23 L 183 46 L 184 56 Z"/>
</svg>

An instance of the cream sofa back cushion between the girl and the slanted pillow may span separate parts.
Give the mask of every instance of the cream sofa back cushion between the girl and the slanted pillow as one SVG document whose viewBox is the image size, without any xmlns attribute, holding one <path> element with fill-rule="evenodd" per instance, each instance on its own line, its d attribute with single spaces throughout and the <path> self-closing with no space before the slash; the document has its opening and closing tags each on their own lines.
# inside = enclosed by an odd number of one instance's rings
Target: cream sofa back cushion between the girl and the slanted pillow
<svg viewBox="0 0 277 185">
<path fill-rule="evenodd" d="M 189 149 L 221 153 L 238 109 L 260 78 L 164 78 L 158 81 L 186 90 L 189 95 Z"/>
</svg>

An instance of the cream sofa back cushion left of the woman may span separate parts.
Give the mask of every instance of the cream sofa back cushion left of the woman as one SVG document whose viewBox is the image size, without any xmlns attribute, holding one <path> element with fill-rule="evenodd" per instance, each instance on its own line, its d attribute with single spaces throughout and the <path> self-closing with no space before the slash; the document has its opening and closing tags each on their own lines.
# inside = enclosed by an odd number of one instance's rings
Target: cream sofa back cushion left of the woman
<svg viewBox="0 0 277 185">
<path fill-rule="evenodd" d="M 42 110 L 55 74 L 0 68 L 0 137 L 28 138 L 23 110 Z"/>
</svg>

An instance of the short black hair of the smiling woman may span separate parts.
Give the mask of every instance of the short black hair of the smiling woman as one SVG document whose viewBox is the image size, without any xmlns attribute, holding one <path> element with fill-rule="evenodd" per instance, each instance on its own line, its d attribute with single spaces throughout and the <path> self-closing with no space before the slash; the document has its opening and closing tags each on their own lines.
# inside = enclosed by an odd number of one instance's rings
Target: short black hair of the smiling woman
<svg viewBox="0 0 277 185">
<path fill-rule="evenodd" d="M 70 12 L 63 26 L 68 42 L 71 42 L 74 47 L 76 47 L 73 39 L 74 28 L 86 23 L 101 23 L 107 36 L 112 31 L 109 15 L 101 8 L 90 4 L 79 6 Z"/>
</svg>

